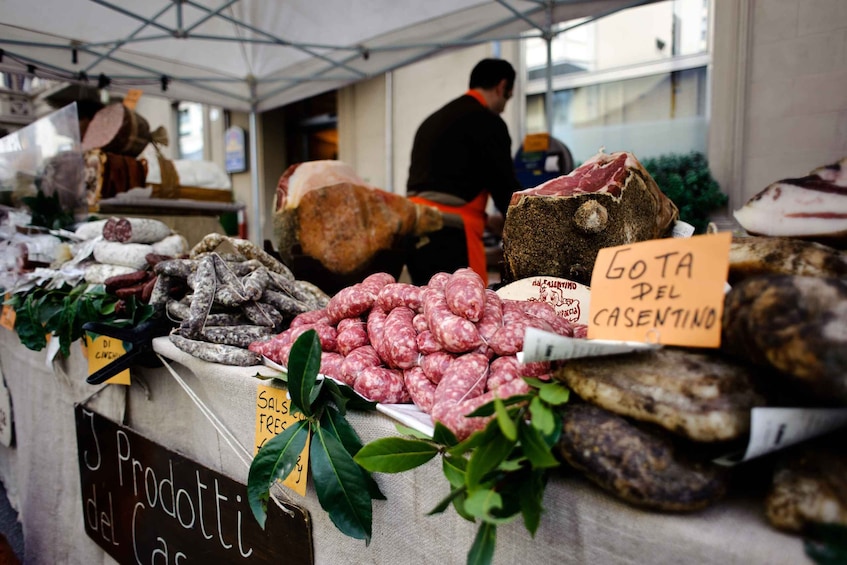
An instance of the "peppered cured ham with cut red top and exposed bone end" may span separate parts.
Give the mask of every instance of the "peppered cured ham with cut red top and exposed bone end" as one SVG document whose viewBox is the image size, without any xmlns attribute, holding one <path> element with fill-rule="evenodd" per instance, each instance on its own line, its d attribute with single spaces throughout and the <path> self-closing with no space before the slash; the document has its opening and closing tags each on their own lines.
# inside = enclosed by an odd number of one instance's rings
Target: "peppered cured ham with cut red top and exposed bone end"
<svg viewBox="0 0 847 565">
<path fill-rule="evenodd" d="M 631 153 L 600 153 L 566 176 L 512 195 L 504 280 L 548 275 L 590 284 L 604 247 L 665 237 L 676 205 Z"/>
</svg>

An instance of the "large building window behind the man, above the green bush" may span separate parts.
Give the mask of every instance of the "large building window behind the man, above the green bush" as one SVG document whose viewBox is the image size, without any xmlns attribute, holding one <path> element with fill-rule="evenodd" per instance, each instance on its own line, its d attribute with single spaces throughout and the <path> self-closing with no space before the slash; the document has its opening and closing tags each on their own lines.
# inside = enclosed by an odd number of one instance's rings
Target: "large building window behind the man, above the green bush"
<svg viewBox="0 0 847 565">
<path fill-rule="evenodd" d="M 559 29 L 579 21 L 565 22 Z M 553 41 L 552 135 L 576 163 L 706 152 L 709 0 L 668 0 L 568 29 Z M 545 131 L 546 46 L 526 42 L 527 132 Z"/>
</svg>

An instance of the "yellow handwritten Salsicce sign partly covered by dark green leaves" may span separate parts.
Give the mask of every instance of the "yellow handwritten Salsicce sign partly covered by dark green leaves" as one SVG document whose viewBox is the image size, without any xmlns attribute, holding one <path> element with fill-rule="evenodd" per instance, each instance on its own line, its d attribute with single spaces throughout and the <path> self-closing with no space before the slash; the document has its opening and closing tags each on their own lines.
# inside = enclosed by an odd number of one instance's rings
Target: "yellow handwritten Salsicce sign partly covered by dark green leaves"
<svg viewBox="0 0 847 565">
<path fill-rule="evenodd" d="M 289 412 L 290 401 L 286 389 L 259 385 L 256 390 L 256 447 L 253 454 L 272 437 L 284 432 L 288 426 L 302 419 Z M 297 465 L 282 481 L 300 496 L 306 496 L 306 479 L 309 471 L 309 439 L 297 460 Z"/>
</svg>

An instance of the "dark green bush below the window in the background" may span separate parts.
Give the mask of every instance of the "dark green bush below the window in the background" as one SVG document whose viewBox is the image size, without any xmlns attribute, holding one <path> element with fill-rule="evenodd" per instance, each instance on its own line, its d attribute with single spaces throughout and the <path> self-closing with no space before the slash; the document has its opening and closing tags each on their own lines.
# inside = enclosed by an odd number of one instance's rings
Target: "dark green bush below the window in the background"
<svg viewBox="0 0 847 565">
<path fill-rule="evenodd" d="M 726 205 L 727 196 L 702 153 L 661 155 L 643 159 L 641 164 L 679 208 L 679 219 L 693 225 L 696 233 L 705 233 L 709 215 Z"/>
</svg>

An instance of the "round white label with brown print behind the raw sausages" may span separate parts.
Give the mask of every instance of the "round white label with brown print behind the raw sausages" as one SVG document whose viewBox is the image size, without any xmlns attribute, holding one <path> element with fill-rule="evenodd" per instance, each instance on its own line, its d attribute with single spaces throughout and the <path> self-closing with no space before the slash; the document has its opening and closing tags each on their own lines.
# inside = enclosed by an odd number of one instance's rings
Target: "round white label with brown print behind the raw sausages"
<svg viewBox="0 0 847 565">
<path fill-rule="evenodd" d="M 584 284 L 558 277 L 527 277 L 497 289 L 500 298 L 547 302 L 572 324 L 588 324 L 591 289 Z"/>
</svg>

